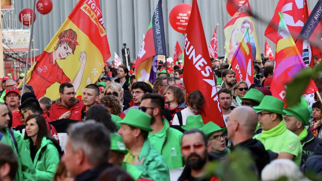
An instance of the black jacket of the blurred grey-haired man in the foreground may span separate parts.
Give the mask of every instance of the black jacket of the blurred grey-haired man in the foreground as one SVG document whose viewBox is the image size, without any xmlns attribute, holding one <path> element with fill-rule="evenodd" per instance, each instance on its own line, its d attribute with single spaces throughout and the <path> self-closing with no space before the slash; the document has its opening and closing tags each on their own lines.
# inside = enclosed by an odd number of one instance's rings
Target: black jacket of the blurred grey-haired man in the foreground
<svg viewBox="0 0 322 181">
<path fill-rule="evenodd" d="M 77 175 L 75 177 L 75 181 L 97 181 L 99 174 L 108 167 L 113 167 L 113 165 L 110 163 L 105 163 L 99 167 L 86 170 L 85 172 Z"/>
</svg>

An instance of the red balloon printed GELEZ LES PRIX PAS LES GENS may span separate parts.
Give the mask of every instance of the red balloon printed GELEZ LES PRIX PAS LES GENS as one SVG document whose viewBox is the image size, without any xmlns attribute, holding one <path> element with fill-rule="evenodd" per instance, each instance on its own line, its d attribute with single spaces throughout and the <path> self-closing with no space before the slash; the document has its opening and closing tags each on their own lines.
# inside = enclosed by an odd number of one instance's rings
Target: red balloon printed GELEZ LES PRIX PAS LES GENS
<svg viewBox="0 0 322 181">
<path fill-rule="evenodd" d="M 191 5 L 181 3 L 173 7 L 169 14 L 169 21 L 173 29 L 179 33 L 185 33 L 191 14 Z"/>
</svg>

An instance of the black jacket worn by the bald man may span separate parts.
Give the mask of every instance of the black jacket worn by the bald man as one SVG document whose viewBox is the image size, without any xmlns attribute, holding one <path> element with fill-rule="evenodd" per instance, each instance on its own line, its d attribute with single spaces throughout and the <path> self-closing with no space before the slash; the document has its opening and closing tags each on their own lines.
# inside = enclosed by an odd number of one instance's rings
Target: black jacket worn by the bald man
<svg viewBox="0 0 322 181">
<path fill-rule="evenodd" d="M 237 144 L 235 147 L 241 147 L 251 151 L 251 156 L 255 160 L 259 176 L 261 175 L 263 168 L 270 163 L 270 155 L 259 140 L 246 140 Z"/>
</svg>

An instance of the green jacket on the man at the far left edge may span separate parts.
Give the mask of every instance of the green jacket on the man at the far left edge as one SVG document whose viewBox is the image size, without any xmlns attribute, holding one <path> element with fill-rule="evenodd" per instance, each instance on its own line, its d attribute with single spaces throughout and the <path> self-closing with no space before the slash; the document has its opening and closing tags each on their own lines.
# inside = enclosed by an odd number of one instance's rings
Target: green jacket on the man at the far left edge
<svg viewBox="0 0 322 181">
<path fill-rule="evenodd" d="M 30 158 L 30 152 L 28 151 L 27 145 L 24 142 L 24 136 L 17 131 L 14 132 L 14 139 L 17 142 L 18 151 L 14 146 L 14 142 L 11 139 L 8 128 L 5 129 L 5 135 L 0 141 L 7 143 L 17 153 L 18 169 L 16 173 L 17 181 L 36 181 L 37 176 L 33 162 Z"/>
</svg>

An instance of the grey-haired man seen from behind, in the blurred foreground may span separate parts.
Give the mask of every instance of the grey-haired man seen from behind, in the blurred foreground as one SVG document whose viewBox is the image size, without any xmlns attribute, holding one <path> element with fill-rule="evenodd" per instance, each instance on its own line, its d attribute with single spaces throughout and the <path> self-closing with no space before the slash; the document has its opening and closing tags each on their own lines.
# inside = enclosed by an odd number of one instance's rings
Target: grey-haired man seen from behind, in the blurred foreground
<svg viewBox="0 0 322 181">
<path fill-rule="evenodd" d="M 68 140 L 62 162 L 75 181 L 97 180 L 108 167 L 110 136 L 100 122 L 77 122 L 68 129 Z"/>
</svg>

